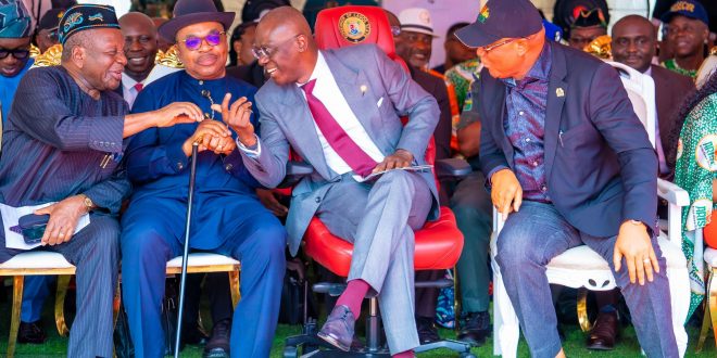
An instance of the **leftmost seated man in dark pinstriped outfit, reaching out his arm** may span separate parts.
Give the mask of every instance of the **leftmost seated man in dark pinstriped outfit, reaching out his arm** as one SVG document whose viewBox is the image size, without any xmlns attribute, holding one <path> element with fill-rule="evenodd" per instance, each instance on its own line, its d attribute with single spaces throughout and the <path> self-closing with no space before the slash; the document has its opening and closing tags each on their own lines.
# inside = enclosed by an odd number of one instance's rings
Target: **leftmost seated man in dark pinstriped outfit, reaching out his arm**
<svg viewBox="0 0 717 358">
<path fill-rule="evenodd" d="M 116 216 L 129 193 L 121 161 L 123 139 L 202 116 L 188 103 L 127 114 L 125 102 L 113 92 L 126 63 L 118 27 L 111 7 L 68 9 L 59 34 L 62 65 L 25 75 L 2 143 L 0 207 L 5 230 L 0 231 L 0 261 L 35 247 L 23 245 L 18 216 L 49 215 L 41 243 L 77 271 L 70 357 L 112 357 Z"/>
</svg>

